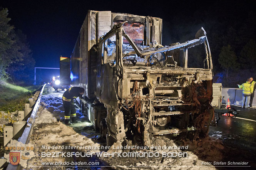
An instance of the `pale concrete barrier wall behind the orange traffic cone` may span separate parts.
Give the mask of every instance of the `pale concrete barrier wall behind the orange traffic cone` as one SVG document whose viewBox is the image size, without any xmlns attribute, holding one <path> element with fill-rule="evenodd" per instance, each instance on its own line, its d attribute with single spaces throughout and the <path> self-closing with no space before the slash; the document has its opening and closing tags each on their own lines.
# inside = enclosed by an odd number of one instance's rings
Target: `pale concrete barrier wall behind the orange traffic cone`
<svg viewBox="0 0 256 170">
<path fill-rule="evenodd" d="M 254 92 L 255 93 L 255 92 Z M 227 104 L 229 99 L 230 104 L 242 106 L 243 89 L 239 88 L 222 88 L 221 95 L 223 96 L 222 103 Z M 256 106 L 256 97 L 253 98 L 253 106 Z"/>
</svg>

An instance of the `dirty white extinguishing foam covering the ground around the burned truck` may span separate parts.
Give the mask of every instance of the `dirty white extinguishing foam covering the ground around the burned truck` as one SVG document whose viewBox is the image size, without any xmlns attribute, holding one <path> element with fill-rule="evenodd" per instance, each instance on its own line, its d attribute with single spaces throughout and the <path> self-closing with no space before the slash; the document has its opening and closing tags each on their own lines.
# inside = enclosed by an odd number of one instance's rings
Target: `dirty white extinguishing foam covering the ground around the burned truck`
<svg viewBox="0 0 256 170">
<path fill-rule="evenodd" d="M 52 93 L 42 96 L 41 106 L 38 109 L 38 117 L 36 119 L 36 124 L 33 132 L 32 144 L 35 144 L 35 153 L 37 157 L 28 162 L 30 166 L 40 166 L 42 162 L 52 162 L 54 161 L 66 161 L 64 158 L 42 158 L 40 157 L 41 152 L 45 152 L 42 149 L 42 145 L 70 145 L 70 146 L 100 146 L 97 143 L 97 134 L 94 129 L 92 129 L 92 124 L 88 121 L 82 122 L 81 124 L 75 124 L 74 126 L 66 126 L 61 122 L 57 123 L 58 119 L 64 117 L 64 108 L 62 106 L 61 93 Z M 80 113 L 79 113 L 80 114 Z M 81 119 L 84 119 L 81 116 Z M 45 123 L 42 124 L 41 123 Z M 54 124 L 53 124 L 54 123 Z M 40 125 L 41 124 L 41 125 Z M 186 141 L 184 141 L 184 145 Z M 198 158 L 207 158 L 207 160 L 216 160 L 216 157 L 221 158 L 221 152 L 223 150 L 223 145 L 217 140 L 204 140 L 196 145 L 194 153 L 187 151 L 188 157 L 181 158 L 171 158 L 164 157 L 157 160 L 149 160 L 147 158 L 141 158 L 140 160 L 134 160 L 132 162 L 127 162 L 125 160 L 120 161 L 118 157 L 107 158 L 106 162 L 111 163 L 114 166 L 120 166 L 125 169 L 175 169 L 175 170 L 205 170 L 205 169 L 215 169 L 214 166 L 204 166 L 202 165 L 202 160 Z M 47 152 L 66 152 L 67 150 L 47 150 Z M 101 152 L 99 149 L 88 149 L 81 150 L 83 152 Z M 159 150 L 160 152 L 161 150 Z M 163 151 L 163 150 L 162 150 Z M 172 152 L 178 150 L 171 150 Z M 71 158 L 67 161 L 74 160 Z M 131 163 L 131 164 L 130 164 Z M 132 166 L 132 167 L 125 167 Z M 104 168 L 104 167 L 101 167 Z M 36 169 L 34 167 L 33 169 Z M 65 168 L 64 168 L 65 169 Z"/>
</svg>

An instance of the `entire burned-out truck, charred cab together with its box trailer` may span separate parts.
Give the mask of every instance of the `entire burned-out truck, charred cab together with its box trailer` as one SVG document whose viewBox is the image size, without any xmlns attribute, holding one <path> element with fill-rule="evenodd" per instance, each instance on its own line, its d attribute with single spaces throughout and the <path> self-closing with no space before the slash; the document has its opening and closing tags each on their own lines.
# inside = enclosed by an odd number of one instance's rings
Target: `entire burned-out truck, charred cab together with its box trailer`
<svg viewBox="0 0 256 170">
<path fill-rule="evenodd" d="M 214 119 L 206 32 L 162 46 L 162 19 L 89 10 L 71 54 L 72 86 L 93 127 L 114 142 L 205 137 Z"/>
</svg>

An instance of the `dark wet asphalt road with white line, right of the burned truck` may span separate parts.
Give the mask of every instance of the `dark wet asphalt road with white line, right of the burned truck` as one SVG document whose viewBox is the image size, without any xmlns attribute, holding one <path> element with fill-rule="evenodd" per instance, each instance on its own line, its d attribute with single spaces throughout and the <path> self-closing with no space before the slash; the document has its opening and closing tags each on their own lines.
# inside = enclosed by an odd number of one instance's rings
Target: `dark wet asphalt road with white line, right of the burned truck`
<svg viewBox="0 0 256 170">
<path fill-rule="evenodd" d="M 250 167 L 218 167 L 218 169 L 256 169 L 256 109 L 234 107 L 237 118 L 221 116 L 217 127 L 210 127 L 209 135 L 225 144 L 223 162 L 249 162 Z M 218 114 L 215 114 L 218 117 Z M 246 120 L 249 119 L 249 120 Z"/>
</svg>

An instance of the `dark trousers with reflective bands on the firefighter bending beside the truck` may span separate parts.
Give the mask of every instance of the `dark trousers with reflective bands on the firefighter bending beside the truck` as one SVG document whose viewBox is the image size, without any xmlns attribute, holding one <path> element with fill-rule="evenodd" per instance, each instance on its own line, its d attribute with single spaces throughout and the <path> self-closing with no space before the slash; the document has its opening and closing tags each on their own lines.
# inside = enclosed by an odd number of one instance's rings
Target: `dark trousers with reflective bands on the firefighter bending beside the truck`
<svg viewBox="0 0 256 170">
<path fill-rule="evenodd" d="M 75 122 L 75 120 L 77 119 L 77 114 L 76 114 L 76 110 L 75 110 L 75 105 L 74 102 L 67 102 L 62 100 L 63 102 L 63 106 L 64 106 L 64 110 L 65 110 L 65 123 L 67 124 L 70 121 L 70 117 L 72 122 Z"/>
</svg>

